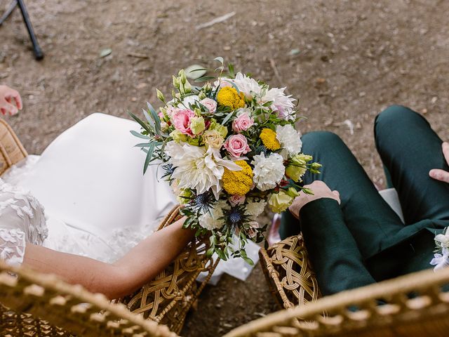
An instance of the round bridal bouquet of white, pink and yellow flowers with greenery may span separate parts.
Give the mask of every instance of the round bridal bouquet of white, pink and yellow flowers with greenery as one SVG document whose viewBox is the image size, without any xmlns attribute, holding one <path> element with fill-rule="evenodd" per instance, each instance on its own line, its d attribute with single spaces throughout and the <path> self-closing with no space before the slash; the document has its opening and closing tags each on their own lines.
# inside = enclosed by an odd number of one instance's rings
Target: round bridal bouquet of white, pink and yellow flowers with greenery
<svg viewBox="0 0 449 337">
<path fill-rule="evenodd" d="M 232 65 L 224 74 L 222 58 L 215 60 L 217 76 L 196 79 L 203 86 L 192 86 L 181 70 L 173 77 L 172 100 L 156 89 L 163 107 L 156 112 L 147 103 L 146 121 L 130 114 L 142 126 L 131 133 L 145 139 L 136 145 L 147 152 L 144 173 L 158 161 L 184 205 L 185 227 L 210 235 L 208 255 L 252 263 L 245 244 L 261 242 L 266 228 L 257 216 L 266 205 L 285 211 L 301 190 L 311 193 L 301 178 L 307 170 L 319 173 L 321 165 L 301 153 L 295 100 L 285 88 L 234 73 Z"/>
</svg>

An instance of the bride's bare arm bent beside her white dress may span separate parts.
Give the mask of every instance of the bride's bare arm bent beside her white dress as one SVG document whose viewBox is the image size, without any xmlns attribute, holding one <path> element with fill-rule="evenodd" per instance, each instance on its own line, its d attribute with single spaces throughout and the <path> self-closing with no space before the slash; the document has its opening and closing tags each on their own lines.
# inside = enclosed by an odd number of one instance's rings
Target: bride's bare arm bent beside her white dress
<svg viewBox="0 0 449 337">
<path fill-rule="evenodd" d="M 53 273 L 94 293 L 119 298 L 156 277 L 194 237 L 182 228 L 185 218 L 147 237 L 114 264 L 27 244 L 23 264 Z"/>
</svg>

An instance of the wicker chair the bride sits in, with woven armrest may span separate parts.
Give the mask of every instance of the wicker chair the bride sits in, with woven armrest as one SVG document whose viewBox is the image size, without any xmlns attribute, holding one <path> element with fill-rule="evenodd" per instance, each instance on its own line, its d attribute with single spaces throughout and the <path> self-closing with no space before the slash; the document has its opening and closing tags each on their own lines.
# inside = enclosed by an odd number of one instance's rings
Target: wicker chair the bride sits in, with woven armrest
<svg viewBox="0 0 449 337">
<path fill-rule="evenodd" d="M 20 140 L 0 119 L 0 175 L 25 157 Z M 178 217 L 176 207 L 159 229 Z M 206 256 L 207 249 L 208 242 L 192 240 L 152 282 L 115 303 L 57 277 L 0 261 L 0 336 L 177 336 L 218 263 Z M 208 277 L 197 284 L 200 272 Z"/>
</svg>

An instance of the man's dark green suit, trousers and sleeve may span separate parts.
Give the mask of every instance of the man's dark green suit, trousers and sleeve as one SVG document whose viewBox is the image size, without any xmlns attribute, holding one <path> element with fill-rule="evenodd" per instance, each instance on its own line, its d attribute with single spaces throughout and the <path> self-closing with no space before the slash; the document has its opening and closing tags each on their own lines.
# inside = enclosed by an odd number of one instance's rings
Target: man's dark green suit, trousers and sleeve
<svg viewBox="0 0 449 337">
<path fill-rule="evenodd" d="M 323 180 L 338 190 L 333 199 L 312 201 L 300 221 L 283 214 L 281 237 L 302 231 L 323 295 L 356 288 L 431 267 L 434 235 L 449 225 L 449 184 L 429 178 L 448 170 L 441 139 L 412 110 L 392 106 L 375 121 L 377 151 L 398 191 L 404 225 L 380 197 L 351 151 L 329 132 L 304 135 L 304 153 L 323 164 Z"/>
</svg>

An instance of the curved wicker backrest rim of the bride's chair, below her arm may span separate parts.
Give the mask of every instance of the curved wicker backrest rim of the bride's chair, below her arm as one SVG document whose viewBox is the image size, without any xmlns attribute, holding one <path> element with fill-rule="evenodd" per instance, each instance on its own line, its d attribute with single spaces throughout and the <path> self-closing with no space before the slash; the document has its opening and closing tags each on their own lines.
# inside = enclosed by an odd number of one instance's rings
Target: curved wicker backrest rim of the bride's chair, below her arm
<svg viewBox="0 0 449 337">
<path fill-rule="evenodd" d="M 0 301 L 0 336 L 177 336 L 102 294 L 1 260 Z"/>
</svg>

